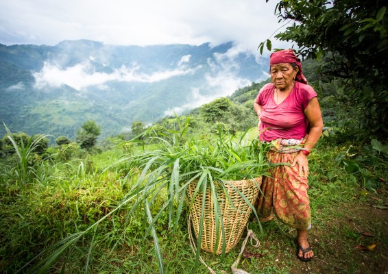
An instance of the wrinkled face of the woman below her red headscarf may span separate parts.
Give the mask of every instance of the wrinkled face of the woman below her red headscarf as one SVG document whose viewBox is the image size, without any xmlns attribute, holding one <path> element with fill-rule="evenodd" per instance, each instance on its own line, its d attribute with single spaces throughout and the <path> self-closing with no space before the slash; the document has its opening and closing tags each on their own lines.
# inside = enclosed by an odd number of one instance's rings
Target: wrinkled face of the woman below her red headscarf
<svg viewBox="0 0 388 274">
<path fill-rule="evenodd" d="M 295 79 L 298 70 L 298 66 L 295 66 L 295 69 L 293 69 L 289 63 L 274 64 L 270 69 L 272 83 L 274 83 L 278 90 L 287 90 L 287 88 L 292 86 L 293 79 Z"/>
</svg>

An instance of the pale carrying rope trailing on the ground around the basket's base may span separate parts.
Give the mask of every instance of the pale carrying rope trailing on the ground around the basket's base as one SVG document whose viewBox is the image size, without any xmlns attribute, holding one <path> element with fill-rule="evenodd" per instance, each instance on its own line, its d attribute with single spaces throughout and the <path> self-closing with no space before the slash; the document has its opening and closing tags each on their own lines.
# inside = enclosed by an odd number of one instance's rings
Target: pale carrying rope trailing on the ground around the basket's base
<svg viewBox="0 0 388 274">
<path fill-rule="evenodd" d="M 189 215 L 189 219 L 187 220 L 187 229 L 189 231 L 189 240 L 190 240 L 191 249 L 193 250 L 193 253 L 196 253 L 197 252 L 197 247 L 195 247 L 195 241 L 193 239 L 193 233 L 191 232 L 191 214 Z M 241 257 L 243 256 L 243 252 L 245 250 L 245 246 L 247 245 L 247 241 L 250 240 L 250 244 L 252 245 L 252 247 L 256 247 L 256 248 L 260 247 L 260 241 L 256 237 L 256 234 L 254 234 L 252 229 L 249 229 L 248 225 L 247 225 L 247 231 L 248 231 L 247 232 L 247 236 L 245 237 L 243 245 L 241 246 L 241 251 L 239 253 L 239 256 L 237 257 L 237 259 L 233 262 L 233 264 L 231 266 L 233 274 L 250 274 L 250 273 L 247 273 L 247 271 L 243 271 L 242 269 L 237 269 L 237 265 L 239 264 L 239 262 L 241 260 Z M 199 256 L 199 262 L 204 264 L 204 266 L 206 266 L 206 268 L 208 269 L 208 271 L 211 274 L 217 274 L 217 273 L 215 273 L 215 271 L 210 266 L 208 266 L 206 264 L 206 262 L 204 261 L 202 256 Z"/>
</svg>

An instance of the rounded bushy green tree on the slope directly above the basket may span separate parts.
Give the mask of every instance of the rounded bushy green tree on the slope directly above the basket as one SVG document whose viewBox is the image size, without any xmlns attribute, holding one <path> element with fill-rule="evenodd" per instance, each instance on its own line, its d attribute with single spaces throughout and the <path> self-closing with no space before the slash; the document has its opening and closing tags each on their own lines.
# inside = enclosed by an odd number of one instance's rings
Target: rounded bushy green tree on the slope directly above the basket
<svg viewBox="0 0 388 274">
<path fill-rule="evenodd" d="M 221 118 L 225 116 L 232 105 L 232 102 L 226 98 L 219 98 L 202 105 L 201 115 L 204 121 L 208 123 L 216 123 L 221 121 Z"/>
</svg>

